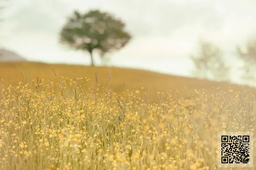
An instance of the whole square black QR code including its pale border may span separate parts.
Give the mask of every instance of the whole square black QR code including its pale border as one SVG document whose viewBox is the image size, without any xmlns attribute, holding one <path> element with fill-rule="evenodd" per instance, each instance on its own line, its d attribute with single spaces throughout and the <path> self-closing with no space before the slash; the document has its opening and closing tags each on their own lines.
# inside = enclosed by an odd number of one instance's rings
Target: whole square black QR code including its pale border
<svg viewBox="0 0 256 170">
<path fill-rule="evenodd" d="M 219 167 L 253 167 L 253 132 L 218 132 Z"/>
</svg>

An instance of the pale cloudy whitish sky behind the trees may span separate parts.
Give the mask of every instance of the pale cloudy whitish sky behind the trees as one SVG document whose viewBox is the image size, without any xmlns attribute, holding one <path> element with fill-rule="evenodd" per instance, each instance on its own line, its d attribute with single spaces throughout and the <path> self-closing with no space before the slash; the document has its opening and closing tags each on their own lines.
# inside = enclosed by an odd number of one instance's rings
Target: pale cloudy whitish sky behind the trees
<svg viewBox="0 0 256 170">
<path fill-rule="evenodd" d="M 121 18 L 132 40 L 108 54 L 108 65 L 191 76 L 198 40 L 220 46 L 241 82 L 234 54 L 256 35 L 254 0 L 9 0 L 1 25 L 1 46 L 31 61 L 90 65 L 88 53 L 59 43 L 59 32 L 74 11 L 100 9 Z M 102 62 L 95 56 L 97 65 Z"/>
</svg>

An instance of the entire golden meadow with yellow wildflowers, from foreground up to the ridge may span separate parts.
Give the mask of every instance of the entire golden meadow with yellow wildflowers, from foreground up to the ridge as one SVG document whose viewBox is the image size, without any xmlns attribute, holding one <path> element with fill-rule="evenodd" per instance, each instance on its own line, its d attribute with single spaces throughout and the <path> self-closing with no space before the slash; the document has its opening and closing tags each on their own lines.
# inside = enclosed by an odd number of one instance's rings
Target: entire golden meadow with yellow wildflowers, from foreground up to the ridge
<svg viewBox="0 0 256 170">
<path fill-rule="evenodd" d="M 217 132 L 255 130 L 248 87 L 29 62 L 0 73 L 3 170 L 218 169 Z"/>
</svg>

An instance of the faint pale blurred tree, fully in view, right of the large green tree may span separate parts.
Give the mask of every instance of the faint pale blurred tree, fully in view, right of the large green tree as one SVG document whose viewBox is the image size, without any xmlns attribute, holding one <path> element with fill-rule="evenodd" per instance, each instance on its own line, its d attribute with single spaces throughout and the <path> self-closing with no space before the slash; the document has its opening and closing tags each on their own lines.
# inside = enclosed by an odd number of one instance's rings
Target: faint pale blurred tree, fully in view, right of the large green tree
<svg viewBox="0 0 256 170">
<path fill-rule="evenodd" d="M 225 64 L 222 58 L 222 52 L 218 46 L 207 42 L 199 41 L 198 56 L 191 56 L 195 65 L 192 74 L 199 78 L 212 78 L 217 81 L 230 81 L 230 68 Z"/>
</svg>

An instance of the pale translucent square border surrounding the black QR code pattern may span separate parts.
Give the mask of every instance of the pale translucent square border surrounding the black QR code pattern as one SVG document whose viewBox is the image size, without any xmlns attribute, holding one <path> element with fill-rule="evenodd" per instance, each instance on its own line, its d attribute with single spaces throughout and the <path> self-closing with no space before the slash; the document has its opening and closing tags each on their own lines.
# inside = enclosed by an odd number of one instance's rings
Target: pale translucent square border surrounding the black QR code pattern
<svg viewBox="0 0 256 170">
<path fill-rule="evenodd" d="M 221 162 L 221 136 L 249 136 L 249 161 L 248 163 L 222 163 Z M 242 142 L 243 143 L 243 142 Z M 253 132 L 218 132 L 218 167 L 253 167 Z"/>
</svg>

